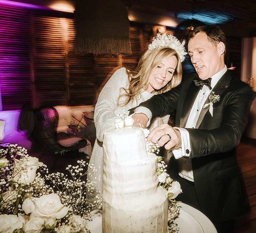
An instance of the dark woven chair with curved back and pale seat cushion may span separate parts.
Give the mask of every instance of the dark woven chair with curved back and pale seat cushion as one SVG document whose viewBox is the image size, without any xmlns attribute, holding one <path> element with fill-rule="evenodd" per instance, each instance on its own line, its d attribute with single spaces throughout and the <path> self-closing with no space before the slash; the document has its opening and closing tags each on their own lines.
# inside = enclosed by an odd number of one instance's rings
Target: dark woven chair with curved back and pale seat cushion
<svg viewBox="0 0 256 233">
<path fill-rule="evenodd" d="M 34 110 L 34 129 L 32 136 L 48 151 L 65 153 L 77 151 L 87 145 L 87 140 L 67 133 L 56 133 L 59 120 L 58 112 L 53 107 Z M 61 143 L 60 143 L 61 142 Z"/>
</svg>

